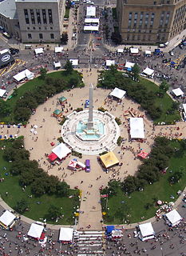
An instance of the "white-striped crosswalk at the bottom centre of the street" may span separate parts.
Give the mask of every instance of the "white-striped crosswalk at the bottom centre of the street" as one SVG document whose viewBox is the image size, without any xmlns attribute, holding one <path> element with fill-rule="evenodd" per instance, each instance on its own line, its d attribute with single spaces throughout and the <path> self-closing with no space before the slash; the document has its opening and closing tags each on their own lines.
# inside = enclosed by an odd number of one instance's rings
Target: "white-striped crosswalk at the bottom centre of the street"
<svg viewBox="0 0 186 256">
<path fill-rule="evenodd" d="M 76 231 L 74 242 L 77 243 L 77 256 L 105 255 L 103 231 Z"/>
</svg>

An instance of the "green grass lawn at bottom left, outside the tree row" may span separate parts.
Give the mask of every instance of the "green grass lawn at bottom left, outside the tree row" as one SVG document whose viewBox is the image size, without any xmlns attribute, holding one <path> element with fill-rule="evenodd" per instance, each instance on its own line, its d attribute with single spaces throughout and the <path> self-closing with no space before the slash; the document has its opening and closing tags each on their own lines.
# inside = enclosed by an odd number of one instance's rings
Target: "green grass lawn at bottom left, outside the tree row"
<svg viewBox="0 0 186 256">
<path fill-rule="evenodd" d="M 0 147 L 6 145 L 9 142 L 0 141 Z M 10 162 L 6 162 L 3 159 L 3 150 L 0 150 L 0 177 L 4 178 L 4 182 L 1 182 L 0 195 L 2 199 L 12 208 L 16 205 L 20 199 L 24 198 L 29 203 L 29 211 L 24 214 L 28 218 L 34 220 L 39 220 L 40 218 L 47 218 L 47 212 L 49 206 L 55 205 L 60 206 L 61 214 L 64 214 L 64 218 L 60 219 L 57 224 L 73 224 L 73 212 L 75 211 L 73 207 L 77 206 L 77 202 L 74 198 L 57 198 L 54 195 L 43 195 L 40 198 L 29 198 L 30 186 L 26 187 L 25 192 L 22 190 L 21 186 L 18 184 L 18 176 L 12 176 L 10 174 Z M 6 170 L 4 170 L 6 167 Z M 8 195 L 6 196 L 6 192 Z M 71 190 L 71 194 L 77 194 L 77 190 Z M 76 197 L 77 198 L 77 197 Z M 38 204 L 40 202 L 40 204 Z M 48 223 L 53 223 L 47 221 Z M 55 222 L 54 222 L 55 223 Z"/>
</svg>

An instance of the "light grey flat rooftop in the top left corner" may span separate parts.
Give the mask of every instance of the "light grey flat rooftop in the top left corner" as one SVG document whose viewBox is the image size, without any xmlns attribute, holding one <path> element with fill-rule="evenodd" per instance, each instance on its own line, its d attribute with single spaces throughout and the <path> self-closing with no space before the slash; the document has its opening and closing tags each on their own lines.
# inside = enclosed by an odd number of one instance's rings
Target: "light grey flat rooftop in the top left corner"
<svg viewBox="0 0 186 256">
<path fill-rule="evenodd" d="M 10 19 L 18 18 L 15 0 L 4 0 L 0 2 L 0 14 Z"/>
</svg>

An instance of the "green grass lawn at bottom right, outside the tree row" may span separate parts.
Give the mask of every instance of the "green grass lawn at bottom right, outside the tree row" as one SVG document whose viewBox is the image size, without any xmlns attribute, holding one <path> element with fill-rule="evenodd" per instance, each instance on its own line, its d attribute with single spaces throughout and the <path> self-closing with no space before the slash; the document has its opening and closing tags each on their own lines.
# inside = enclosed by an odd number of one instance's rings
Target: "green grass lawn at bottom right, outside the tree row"
<svg viewBox="0 0 186 256">
<path fill-rule="evenodd" d="M 183 177 L 180 182 L 171 186 L 168 183 L 168 177 L 173 172 L 184 167 Z M 172 173 L 170 173 L 172 170 Z M 140 222 L 141 217 L 144 219 L 152 218 L 158 208 L 156 208 L 156 201 L 172 202 L 176 201 L 178 190 L 184 190 L 186 186 L 186 152 L 183 157 L 171 158 L 169 168 L 166 174 L 162 174 L 159 182 L 155 182 L 152 185 L 145 187 L 143 191 L 135 191 L 129 196 L 118 190 L 117 196 L 109 198 L 107 206 L 109 207 L 109 219 L 106 221 L 108 224 L 124 223 L 126 219 L 129 219 L 130 223 Z M 173 195 L 175 199 L 171 199 L 170 195 Z M 102 199 L 107 200 L 107 199 Z M 150 204 L 149 209 L 146 209 L 146 205 Z M 129 215 L 129 216 L 127 216 Z"/>
</svg>

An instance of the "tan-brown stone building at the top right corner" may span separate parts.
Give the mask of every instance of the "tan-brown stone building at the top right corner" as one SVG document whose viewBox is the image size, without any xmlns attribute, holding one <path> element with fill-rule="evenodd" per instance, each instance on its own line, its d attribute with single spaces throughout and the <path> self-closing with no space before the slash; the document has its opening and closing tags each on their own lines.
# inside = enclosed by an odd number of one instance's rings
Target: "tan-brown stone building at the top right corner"
<svg viewBox="0 0 186 256">
<path fill-rule="evenodd" d="M 186 29 L 186 0 L 117 0 L 125 44 L 168 42 Z"/>
</svg>

